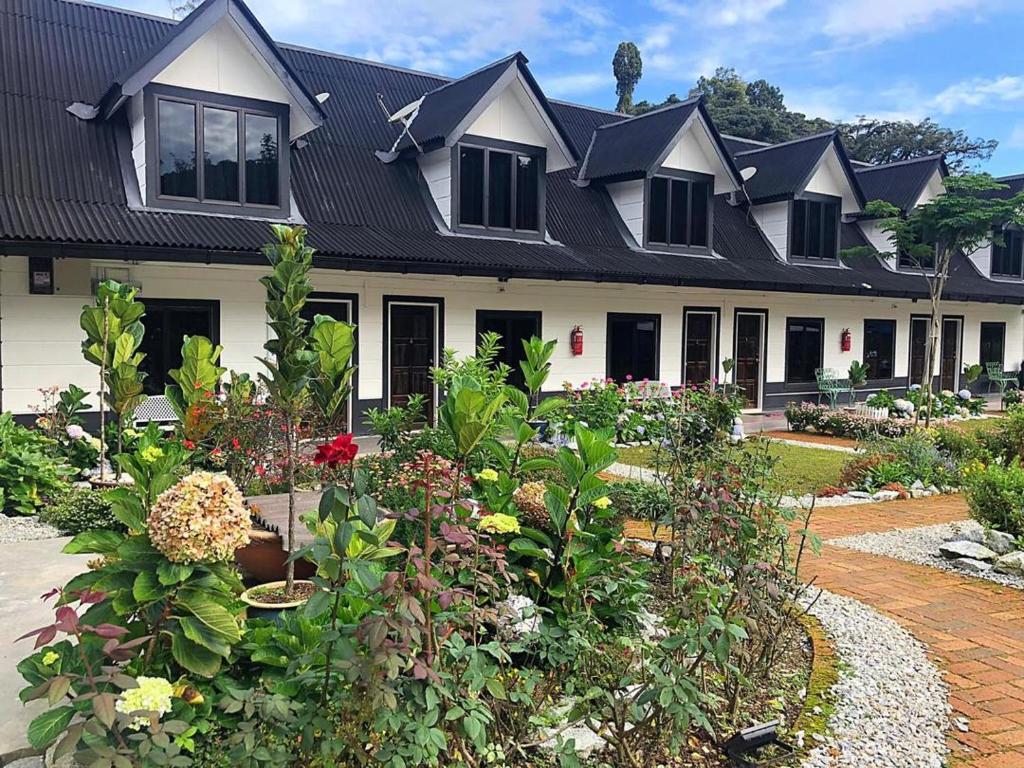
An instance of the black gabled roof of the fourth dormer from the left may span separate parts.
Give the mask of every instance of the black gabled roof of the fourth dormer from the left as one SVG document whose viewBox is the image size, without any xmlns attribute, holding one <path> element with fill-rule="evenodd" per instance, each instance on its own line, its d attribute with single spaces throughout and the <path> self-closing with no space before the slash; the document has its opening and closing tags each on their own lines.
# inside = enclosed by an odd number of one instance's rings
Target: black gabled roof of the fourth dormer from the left
<svg viewBox="0 0 1024 768">
<path fill-rule="evenodd" d="M 857 184 L 853 166 L 839 138 L 839 132 L 835 130 L 737 153 L 734 159 L 740 171 L 745 168 L 757 169 L 743 183 L 748 198 L 752 203 L 770 203 L 792 198 L 810 180 L 818 161 L 829 146 L 836 148 L 840 163 L 850 179 L 850 186 L 863 206 L 863 195 Z"/>
</svg>

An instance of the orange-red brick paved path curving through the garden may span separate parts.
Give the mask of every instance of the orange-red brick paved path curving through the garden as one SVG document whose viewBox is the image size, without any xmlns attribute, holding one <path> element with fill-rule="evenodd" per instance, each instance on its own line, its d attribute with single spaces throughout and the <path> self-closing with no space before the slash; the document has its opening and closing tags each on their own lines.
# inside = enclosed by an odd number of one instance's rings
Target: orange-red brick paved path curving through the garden
<svg viewBox="0 0 1024 768">
<path fill-rule="evenodd" d="M 822 540 L 967 519 L 961 497 L 823 508 L 812 528 Z M 649 536 L 631 523 L 629 535 Z M 928 645 L 949 685 L 950 765 L 1024 768 L 1024 592 L 937 568 L 825 544 L 809 554 L 805 579 L 885 613 Z M 865 768 L 867 768 L 865 766 Z"/>
</svg>

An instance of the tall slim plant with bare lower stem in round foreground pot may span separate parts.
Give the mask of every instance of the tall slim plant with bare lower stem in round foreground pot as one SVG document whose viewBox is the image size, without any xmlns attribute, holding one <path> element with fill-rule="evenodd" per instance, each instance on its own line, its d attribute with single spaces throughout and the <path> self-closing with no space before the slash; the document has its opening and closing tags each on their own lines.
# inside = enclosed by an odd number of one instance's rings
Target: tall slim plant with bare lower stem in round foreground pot
<svg viewBox="0 0 1024 768">
<path fill-rule="evenodd" d="M 281 412 L 285 424 L 285 473 L 288 484 L 288 553 L 295 552 L 295 464 L 298 452 L 297 427 L 309 399 L 309 385 L 316 374 L 317 354 L 306 339 L 306 321 L 302 307 L 312 291 L 309 270 L 313 249 L 306 245 L 306 230 L 301 226 L 273 225 L 274 240 L 263 248 L 270 262 L 269 274 L 260 278 L 266 289 L 267 325 L 273 336 L 263 348 L 268 352 L 260 361 L 268 373 L 260 374 L 270 399 Z M 289 559 L 286 592 L 295 584 L 295 561 Z"/>
</svg>

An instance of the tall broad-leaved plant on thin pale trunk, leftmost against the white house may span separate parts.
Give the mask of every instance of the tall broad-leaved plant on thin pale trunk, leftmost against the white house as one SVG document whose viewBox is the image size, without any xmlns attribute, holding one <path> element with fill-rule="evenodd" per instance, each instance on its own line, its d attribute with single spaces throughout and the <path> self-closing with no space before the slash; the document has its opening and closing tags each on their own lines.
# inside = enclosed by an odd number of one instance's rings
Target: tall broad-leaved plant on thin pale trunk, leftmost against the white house
<svg viewBox="0 0 1024 768">
<path fill-rule="evenodd" d="M 125 418 L 145 399 L 139 365 L 145 354 L 138 351 L 145 329 L 145 305 L 135 299 L 138 289 L 108 280 L 96 289 L 94 306 L 82 307 L 80 325 L 85 331 L 82 354 L 99 368 L 100 479 L 103 478 L 106 407 L 117 422 L 118 453 Z"/>
</svg>

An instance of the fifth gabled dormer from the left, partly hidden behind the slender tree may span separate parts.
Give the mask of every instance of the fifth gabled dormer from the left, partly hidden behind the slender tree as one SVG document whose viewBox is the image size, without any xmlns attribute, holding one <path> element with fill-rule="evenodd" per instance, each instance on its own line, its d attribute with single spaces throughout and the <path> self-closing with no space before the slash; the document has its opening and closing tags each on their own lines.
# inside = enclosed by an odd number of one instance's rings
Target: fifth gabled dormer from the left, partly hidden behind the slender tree
<svg viewBox="0 0 1024 768">
<path fill-rule="evenodd" d="M 914 208 L 935 200 L 945 188 L 945 177 L 949 175 L 945 160 L 941 155 L 901 160 L 884 165 L 857 168 L 857 180 L 864 193 L 864 199 L 884 200 L 899 209 L 901 216 Z M 893 250 L 889 233 L 884 231 L 874 219 L 861 218 L 860 229 L 877 251 L 891 253 Z M 934 268 L 935 262 L 928 263 L 921 258 L 913 259 L 902 253 L 898 258 L 886 260 L 892 269 L 918 271 Z"/>
</svg>

